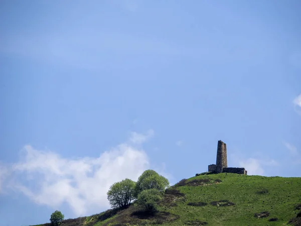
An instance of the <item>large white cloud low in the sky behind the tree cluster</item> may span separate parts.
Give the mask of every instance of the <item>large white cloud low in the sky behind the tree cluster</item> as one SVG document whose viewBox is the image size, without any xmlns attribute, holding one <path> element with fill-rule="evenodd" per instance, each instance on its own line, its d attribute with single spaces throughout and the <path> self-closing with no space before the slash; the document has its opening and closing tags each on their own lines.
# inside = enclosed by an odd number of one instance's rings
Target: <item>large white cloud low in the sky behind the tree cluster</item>
<svg viewBox="0 0 301 226">
<path fill-rule="evenodd" d="M 17 176 L 12 188 L 52 208 L 66 202 L 75 216 L 106 209 L 110 185 L 125 178 L 137 180 L 149 169 L 146 153 L 134 144 L 142 144 L 153 134 L 152 130 L 146 135 L 132 133 L 131 143 L 118 145 L 98 158 L 68 159 L 26 145 L 20 161 L 11 167 Z"/>
</svg>

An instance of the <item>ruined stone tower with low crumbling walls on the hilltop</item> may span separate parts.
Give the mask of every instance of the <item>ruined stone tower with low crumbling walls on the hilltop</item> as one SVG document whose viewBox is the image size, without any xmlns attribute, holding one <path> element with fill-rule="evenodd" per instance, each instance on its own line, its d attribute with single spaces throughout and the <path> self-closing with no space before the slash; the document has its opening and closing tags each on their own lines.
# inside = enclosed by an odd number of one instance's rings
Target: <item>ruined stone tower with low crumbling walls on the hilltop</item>
<svg viewBox="0 0 301 226">
<path fill-rule="evenodd" d="M 213 173 L 238 173 L 247 175 L 245 168 L 228 168 L 227 163 L 227 146 L 224 142 L 218 141 L 217 143 L 217 155 L 216 164 L 211 164 L 208 166 L 208 172 Z"/>
</svg>

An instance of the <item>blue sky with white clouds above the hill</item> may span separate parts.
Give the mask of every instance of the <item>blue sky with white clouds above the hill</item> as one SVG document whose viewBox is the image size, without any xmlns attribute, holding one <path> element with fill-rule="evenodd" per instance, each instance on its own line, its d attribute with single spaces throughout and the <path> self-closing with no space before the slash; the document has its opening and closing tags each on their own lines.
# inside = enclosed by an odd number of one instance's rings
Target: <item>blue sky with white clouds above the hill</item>
<svg viewBox="0 0 301 226">
<path fill-rule="evenodd" d="M 300 177 L 300 1 L 2 1 L 0 225 L 107 209 L 152 168 Z"/>
</svg>

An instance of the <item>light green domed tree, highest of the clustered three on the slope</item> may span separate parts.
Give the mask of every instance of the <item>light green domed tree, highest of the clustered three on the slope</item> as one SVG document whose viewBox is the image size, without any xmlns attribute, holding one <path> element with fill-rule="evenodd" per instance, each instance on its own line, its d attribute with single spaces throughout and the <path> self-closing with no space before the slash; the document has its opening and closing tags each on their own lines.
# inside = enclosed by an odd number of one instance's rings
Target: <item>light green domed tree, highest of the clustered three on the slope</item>
<svg viewBox="0 0 301 226">
<path fill-rule="evenodd" d="M 169 181 L 164 176 L 159 175 L 155 170 L 145 170 L 139 176 L 135 188 L 135 196 L 146 189 L 157 189 L 164 191 L 169 186 Z"/>
</svg>

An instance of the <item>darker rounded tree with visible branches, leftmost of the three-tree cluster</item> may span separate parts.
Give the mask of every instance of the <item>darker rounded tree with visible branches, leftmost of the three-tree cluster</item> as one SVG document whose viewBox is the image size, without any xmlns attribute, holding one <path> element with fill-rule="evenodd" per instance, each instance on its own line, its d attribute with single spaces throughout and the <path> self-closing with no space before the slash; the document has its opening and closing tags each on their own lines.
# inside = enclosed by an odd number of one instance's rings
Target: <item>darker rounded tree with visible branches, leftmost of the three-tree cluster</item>
<svg viewBox="0 0 301 226">
<path fill-rule="evenodd" d="M 107 196 L 112 207 L 127 207 L 134 200 L 136 182 L 124 179 L 110 186 Z"/>
</svg>

